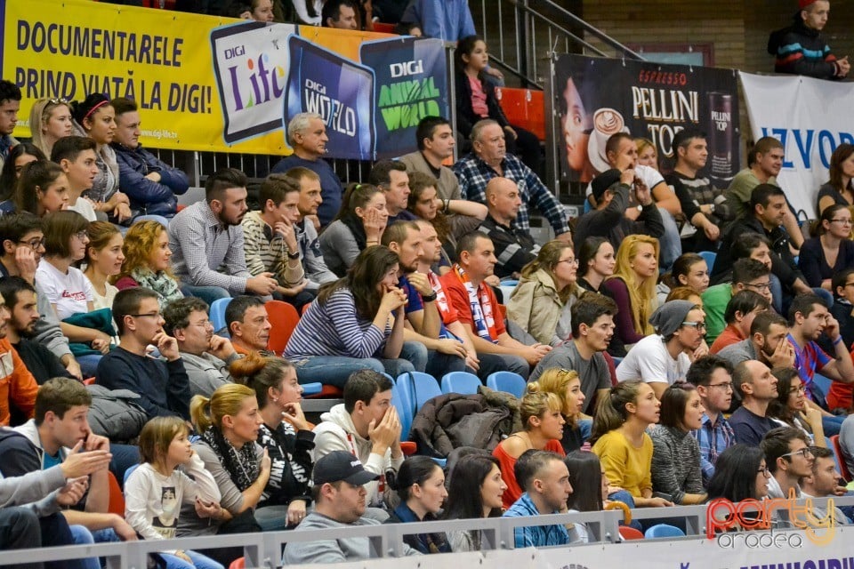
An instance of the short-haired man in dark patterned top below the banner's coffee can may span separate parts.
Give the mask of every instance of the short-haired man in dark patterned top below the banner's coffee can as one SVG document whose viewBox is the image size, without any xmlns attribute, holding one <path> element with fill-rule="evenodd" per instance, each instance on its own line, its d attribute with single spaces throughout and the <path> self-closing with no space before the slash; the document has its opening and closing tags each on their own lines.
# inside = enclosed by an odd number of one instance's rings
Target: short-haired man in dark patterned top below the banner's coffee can
<svg viewBox="0 0 854 569">
<path fill-rule="evenodd" d="M 720 228 L 734 216 L 725 204 L 723 190 L 715 188 L 707 177 L 698 177 L 709 157 L 705 132 L 684 130 L 673 137 L 673 155 L 676 165 L 665 176 L 668 185 L 679 198 L 682 212 L 695 228 L 705 228 L 690 239 L 682 240 L 682 251 L 714 251 L 720 237 Z M 709 230 L 709 224 L 714 229 Z M 684 230 L 683 230 L 684 235 Z"/>
</svg>

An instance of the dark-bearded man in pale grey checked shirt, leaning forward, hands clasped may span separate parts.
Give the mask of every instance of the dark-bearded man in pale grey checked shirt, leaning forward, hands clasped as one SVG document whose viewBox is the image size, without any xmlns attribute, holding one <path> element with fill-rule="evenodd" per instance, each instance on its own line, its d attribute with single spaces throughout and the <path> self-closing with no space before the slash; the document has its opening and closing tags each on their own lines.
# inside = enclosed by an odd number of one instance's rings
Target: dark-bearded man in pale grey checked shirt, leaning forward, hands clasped
<svg viewBox="0 0 854 569">
<path fill-rule="evenodd" d="M 270 272 L 252 276 L 246 268 L 243 228 L 246 174 L 223 168 L 205 181 L 205 201 L 192 204 L 169 223 L 172 267 L 185 296 L 208 303 L 253 293 L 270 298 L 278 282 Z"/>
</svg>

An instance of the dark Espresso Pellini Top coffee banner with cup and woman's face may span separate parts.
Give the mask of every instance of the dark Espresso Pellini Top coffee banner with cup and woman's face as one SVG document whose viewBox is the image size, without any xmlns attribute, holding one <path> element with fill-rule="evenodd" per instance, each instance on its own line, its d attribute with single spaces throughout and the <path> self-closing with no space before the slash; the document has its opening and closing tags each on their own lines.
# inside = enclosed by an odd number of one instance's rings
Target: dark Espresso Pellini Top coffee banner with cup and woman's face
<svg viewBox="0 0 854 569">
<path fill-rule="evenodd" d="M 560 112 L 560 172 L 588 182 L 608 170 L 605 144 L 617 132 L 655 145 L 663 172 L 673 169 L 673 136 L 705 132 L 700 175 L 726 188 L 740 167 L 738 85 L 732 69 L 560 55 L 554 108 Z"/>
</svg>

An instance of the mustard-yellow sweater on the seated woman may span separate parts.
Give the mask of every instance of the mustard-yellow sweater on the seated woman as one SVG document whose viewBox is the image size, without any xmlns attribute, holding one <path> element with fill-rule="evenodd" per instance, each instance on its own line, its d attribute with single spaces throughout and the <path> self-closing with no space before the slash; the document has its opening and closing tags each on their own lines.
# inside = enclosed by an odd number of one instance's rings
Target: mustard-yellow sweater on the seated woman
<svg viewBox="0 0 854 569">
<path fill-rule="evenodd" d="M 652 439 L 646 433 L 638 448 L 622 432 L 609 431 L 593 445 L 593 453 L 599 456 L 611 485 L 620 486 L 635 497 L 652 489 Z"/>
</svg>

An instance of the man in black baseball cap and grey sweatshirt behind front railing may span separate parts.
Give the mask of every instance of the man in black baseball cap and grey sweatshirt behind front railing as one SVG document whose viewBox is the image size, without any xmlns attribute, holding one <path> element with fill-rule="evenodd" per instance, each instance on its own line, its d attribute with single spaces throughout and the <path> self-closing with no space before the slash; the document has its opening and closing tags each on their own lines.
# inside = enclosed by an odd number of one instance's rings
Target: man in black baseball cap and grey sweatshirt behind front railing
<svg viewBox="0 0 854 569">
<path fill-rule="evenodd" d="M 333 527 L 378 525 L 365 517 L 366 485 L 376 484 L 379 478 L 362 466 L 348 451 L 333 451 L 314 465 L 311 489 L 315 509 L 302 519 L 295 532 Z M 421 555 L 403 544 L 403 555 Z M 337 540 L 295 541 L 289 543 L 282 557 L 284 565 L 306 563 L 341 563 L 380 557 L 367 537 L 348 537 Z"/>
</svg>

